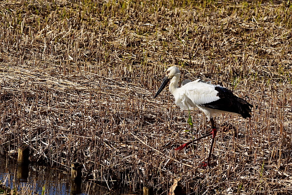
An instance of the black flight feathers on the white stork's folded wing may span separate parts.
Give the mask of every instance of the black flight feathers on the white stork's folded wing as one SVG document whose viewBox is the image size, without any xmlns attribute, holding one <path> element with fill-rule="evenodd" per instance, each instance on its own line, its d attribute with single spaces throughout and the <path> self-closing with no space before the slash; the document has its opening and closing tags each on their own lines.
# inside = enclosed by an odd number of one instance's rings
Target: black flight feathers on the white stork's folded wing
<svg viewBox="0 0 292 195">
<path fill-rule="evenodd" d="M 225 112 L 237 113 L 240 114 L 243 118 L 251 117 L 250 113 L 253 105 L 244 99 L 235 96 L 230 90 L 224 87 L 216 86 L 215 90 L 218 91 L 217 96 L 219 96 L 220 99 L 210 103 L 205 103 L 201 106 Z"/>
</svg>

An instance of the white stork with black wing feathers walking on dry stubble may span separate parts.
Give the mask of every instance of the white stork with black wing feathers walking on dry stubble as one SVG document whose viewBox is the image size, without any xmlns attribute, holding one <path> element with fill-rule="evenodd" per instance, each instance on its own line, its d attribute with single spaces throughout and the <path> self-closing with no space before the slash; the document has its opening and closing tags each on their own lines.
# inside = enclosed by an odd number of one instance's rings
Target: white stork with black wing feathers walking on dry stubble
<svg viewBox="0 0 292 195">
<path fill-rule="evenodd" d="M 212 132 L 206 134 L 198 139 L 197 141 L 212 135 L 211 148 L 208 155 L 207 163 L 204 166 L 208 166 L 211 158 L 211 152 L 217 134 L 217 129 L 213 120 L 213 115 L 218 113 L 229 113 L 233 115 L 239 115 L 243 118 L 251 117 L 251 108 L 253 105 L 235 96 L 230 90 L 220 87 L 219 85 L 213 85 L 211 82 L 205 82 L 201 79 L 197 79 L 193 82 L 188 82 L 182 87 L 178 87 L 178 81 L 180 79 L 180 70 L 172 66 L 167 69 L 166 76 L 164 77 L 161 86 L 156 92 L 154 98 L 164 89 L 166 84 L 170 81 L 169 91 L 175 98 L 175 104 L 180 106 L 181 110 L 187 110 L 192 108 L 201 109 L 206 115 L 208 120 L 211 122 Z M 181 150 L 191 144 L 190 141 L 186 144 L 181 145 L 175 150 Z"/>
</svg>

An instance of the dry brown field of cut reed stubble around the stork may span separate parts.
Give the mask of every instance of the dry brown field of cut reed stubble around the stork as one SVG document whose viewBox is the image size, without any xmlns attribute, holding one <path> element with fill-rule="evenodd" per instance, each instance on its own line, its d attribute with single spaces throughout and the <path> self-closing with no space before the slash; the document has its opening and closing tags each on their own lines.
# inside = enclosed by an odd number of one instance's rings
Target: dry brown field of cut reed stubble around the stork
<svg viewBox="0 0 292 195">
<path fill-rule="evenodd" d="M 0 154 L 21 144 L 32 162 L 139 194 L 292 193 L 291 1 L 1 1 Z M 186 123 L 164 71 L 232 90 L 251 119 L 217 115 L 211 138 L 199 110 Z"/>
</svg>

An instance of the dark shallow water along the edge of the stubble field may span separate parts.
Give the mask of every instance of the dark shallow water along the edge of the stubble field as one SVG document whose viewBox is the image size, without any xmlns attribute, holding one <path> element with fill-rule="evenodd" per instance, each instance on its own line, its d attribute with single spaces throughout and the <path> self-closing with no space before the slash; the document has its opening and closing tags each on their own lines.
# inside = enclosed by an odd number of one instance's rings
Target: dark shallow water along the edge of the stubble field
<svg viewBox="0 0 292 195">
<path fill-rule="evenodd" d="M 45 194 L 49 195 L 119 194 L 91 181 L 76 184 L 67 171 L 36 164 L 21 167 L 16 159 L 5 156 L 0 158 L 0 181 L 4 181 L 4 185 L 10 189 L 17 187 L 23 191 L 27 188 L 31 194 L 41 194 L 43 187 Z"/>
</svg>

